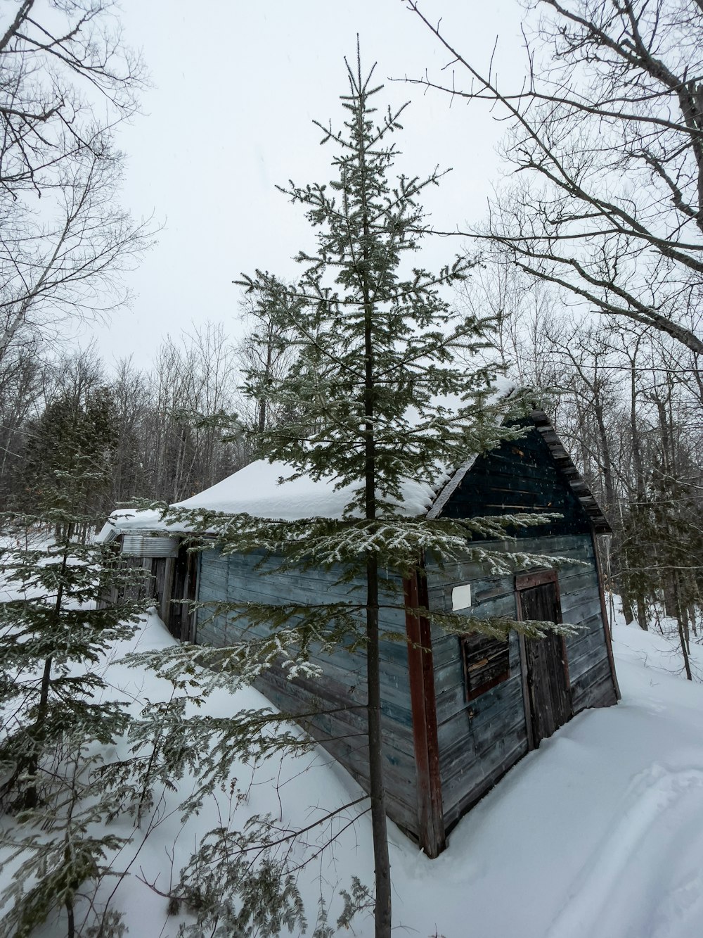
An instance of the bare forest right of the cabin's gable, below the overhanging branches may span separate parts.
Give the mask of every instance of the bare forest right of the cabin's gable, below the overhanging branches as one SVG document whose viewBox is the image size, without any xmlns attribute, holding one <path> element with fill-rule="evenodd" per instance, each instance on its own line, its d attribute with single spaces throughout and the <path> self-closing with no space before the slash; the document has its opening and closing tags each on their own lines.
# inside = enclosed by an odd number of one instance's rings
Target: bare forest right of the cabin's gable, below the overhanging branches
<svg viewBox="0 0 703 938">
<path fill-rule="evenodd" d="M 689 643 L 703 582 L 698 356 L 636 323 L 577 317 L 550 284 L 493 260 L 459 301 L 495 316 L 501 364 L 535 389 L 604 508 L 602 562 L 626 618 L 649 628 L 659 609 Z"/>
</svg>

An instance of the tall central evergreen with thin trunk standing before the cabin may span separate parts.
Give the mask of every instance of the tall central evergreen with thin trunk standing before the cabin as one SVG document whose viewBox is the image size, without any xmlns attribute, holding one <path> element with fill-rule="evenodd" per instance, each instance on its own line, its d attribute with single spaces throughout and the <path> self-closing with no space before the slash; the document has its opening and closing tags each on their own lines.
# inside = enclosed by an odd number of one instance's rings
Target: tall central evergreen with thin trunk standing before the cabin
<svg viewBox="0 0 703 938">
<path fill-rule="evenodd" d="M 285 461 L 291 478 L 334 478 L 338 489 L 350 492 L 348 504 L 339 520 L 278 522 L 183 509 L 172 509 L 167 518 L 215 534 L 225 552 L 264 551 L 286 567 L 326 567 L 341 582 L 365 583 L 361 604 L 352 594 L 348 603 L 325 605 L 321 598 L 314 607 L 228 603 L 232 619 L 265 623 L 268 637 L 254 641 L 245 634 L 231 649 L 199 647 L 196 654 L 217 667 L 219 680 L 232 670 L 251 679 L 281 656 L 288 659 L 289 673 L 304 673 L 313 645 L 330 654 L 340 644 L 365 649 L 376 934 L 387 938 L 391 881 L 381 770 L 380 607 L 405 608 L 402 578 L 422 574 L 426 552 L 440 562 L 461 557 L 488 563 L 501 573 L 544 564 L 545 558 L 470 544 L 476 534 L 502 539 L 511 526 L 537 523 L 533 516 L 408 517 L 409 481 L 439 484 L 442 473 L 468 454 L 521 431 L 514 423 L 501 424 L 507 404 L 495 401 L 494 371 L 461 364 L 490 341 L 489 324 L 455 314 L 443 293 L 473 262 L 457 258 L 438 274 L 411 263 L 424 227 L 419 197 L 441 174 L 391 180 L 396 151 L 389 138 L 400 129 L 404 108 L 377 116 L 372 102 L 380 88 L 373 86 L 372 72 L 363 76 L 357 56 L 357 67 L 348 67 L 349 94 L 342 98 L 344 128 L 319 125 L 323 142 L 337 147 L 337 178 L 329 188 L 291 183 L 283 189 L 307 208 L 317 231 L 317 252 L 298 256 L 302 277 L 286 285 L 257 271 L 242 281 L 258 302 L 269 298 L 267 313 L 274 321 L 281 318 L 294 349 L 284 374 L 247 374 L 254 400 L 265 396 L 291 415 L 285 426 L 260 428 L 258 448 L 272 461 Z M 224 606 L 218 603 L 218 613 Z M 444 628 L 467 630 L 465 616 L 428 614 Z M 471 628 L 504 638 L 510 628 L 540 635 L 546 627 L 501 619 L 476 621 Z M 177 684 L 192 656 L 176 648 L 153 663 Z M 187 673 L 193 673 L 192 664 Z"/>
</svg>

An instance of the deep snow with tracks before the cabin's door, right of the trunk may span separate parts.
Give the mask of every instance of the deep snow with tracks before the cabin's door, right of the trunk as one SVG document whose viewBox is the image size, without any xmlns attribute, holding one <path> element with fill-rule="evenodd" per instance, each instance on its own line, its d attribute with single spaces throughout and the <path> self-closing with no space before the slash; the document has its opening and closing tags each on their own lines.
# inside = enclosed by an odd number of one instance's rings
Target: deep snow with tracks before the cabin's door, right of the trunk
<svg viewBox="0 0 703 938">
<path fill-rule="evenodd" d="M 621 703 L 517 764 L 438 860 L 397 852 L 404 924 L 446 938 L 698 938 L 703 688 L 671 673 L 660 639 L 617 628 Z"/>
</svg>

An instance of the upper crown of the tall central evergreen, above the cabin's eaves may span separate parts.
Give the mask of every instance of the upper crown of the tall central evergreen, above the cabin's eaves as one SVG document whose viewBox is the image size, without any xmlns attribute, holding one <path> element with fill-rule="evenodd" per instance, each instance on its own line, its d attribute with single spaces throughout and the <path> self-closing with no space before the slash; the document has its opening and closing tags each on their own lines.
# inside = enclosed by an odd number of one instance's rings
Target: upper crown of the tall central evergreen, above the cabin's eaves
<svg viewBox="0 0 703 938">
<path fill-rule="evenodd" d="M 291 370 L 265 387 L 247 375 L 252 397 L 265 393 L 291 415 L 261 434 L 262 452 L 291 464 L 293 477 L 333 477 L 338 487 L 364 480 L 348 512 L 367 519 L 396 513 L 404 479 L 433 477 L 501 437 L 486 402 L 494 372 L 466 364 L 490 343 L 488 324 L 446 298 L 475 261 L 456 257 L 435 273 L 406 260 L 426 227 L 420 196 L 443 173 L 393 175 L 407 105 L 377 108 L 373 72 L 357 53 L 342 128 L 316 122 L 336 150 L 331 183 L 281 188 L 306 206 L 316 232 L 316 252 L 297 255 L 302 276 L 286 285 L 258 270 L 241 281 L 292 330 L 296 352 Z"/>
</svg>

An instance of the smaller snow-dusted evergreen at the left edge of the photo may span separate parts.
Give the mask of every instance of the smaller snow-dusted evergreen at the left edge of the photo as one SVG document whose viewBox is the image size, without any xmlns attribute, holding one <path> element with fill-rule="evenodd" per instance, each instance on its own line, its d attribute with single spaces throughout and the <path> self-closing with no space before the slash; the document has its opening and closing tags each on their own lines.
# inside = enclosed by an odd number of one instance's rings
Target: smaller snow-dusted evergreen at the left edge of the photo
<svg viewBox="0 0 703 938">
<path fill-rule="evenodd" d="M 41 466 L 32 513 L 0 516 L 6 588 L 15 595 L 0 605 L 0 806 L 15 815 L 3 846 L 20 863 L 0 898 L 0 934 L 28 935 L 63 906 L 71 938 L 77 891 L 107 871 L 107 855 L 123 842 L 96 834 L 113 811 L 101 748 L 127 728 L 126 705 L 103 699 L 101 669 L 143 603 L 103 601 L 132 585 L 134 571 L 115 567 L 110 546 L 85 542 L 95 522 L 91 499 L 109 483 L 109 466 L 90 438 L 70 434 L 53 456 Z"/>
</svg>

